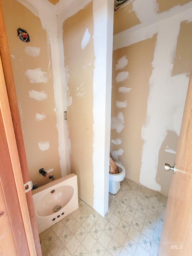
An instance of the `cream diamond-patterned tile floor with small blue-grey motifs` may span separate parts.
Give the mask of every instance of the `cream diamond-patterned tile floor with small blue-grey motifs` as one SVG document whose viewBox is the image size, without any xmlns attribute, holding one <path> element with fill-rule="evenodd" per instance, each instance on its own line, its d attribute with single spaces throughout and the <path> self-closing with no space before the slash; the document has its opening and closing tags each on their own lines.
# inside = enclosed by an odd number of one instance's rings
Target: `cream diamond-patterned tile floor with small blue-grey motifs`
<svg viewBox="0 0 192 256">
<path fill-rule="evenodd" d="M 105 218 L 79 200 L 79 209 L 42 232 L 43 256 L 157 256 L 167 197 L 124 179 L 109 193 Z"/>
</svg>

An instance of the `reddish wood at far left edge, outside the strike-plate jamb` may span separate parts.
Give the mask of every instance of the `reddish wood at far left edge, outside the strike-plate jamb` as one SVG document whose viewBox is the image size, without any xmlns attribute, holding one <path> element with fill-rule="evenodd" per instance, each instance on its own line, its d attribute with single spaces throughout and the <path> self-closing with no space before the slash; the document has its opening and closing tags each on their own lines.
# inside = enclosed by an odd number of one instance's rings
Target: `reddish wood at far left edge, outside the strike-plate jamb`
<svg viewBox="0 0 192 256">
<path fill-rule="evenodd" d="M 1 71 L 2 67 L 0 67 L 0 97 L 4 96 L 2 93 L 4 86 L 2 85 L 3 75 Z M 0 104 L 3 104 L 1 100 Z M 1 111 L 2 107 L 0 107 L 0 254 L 7 255 L 7 252 L 9 252 L 10 255 L 29 255 Z M 6 227 L 4 228 L 5 225 Z"/>
</svg>

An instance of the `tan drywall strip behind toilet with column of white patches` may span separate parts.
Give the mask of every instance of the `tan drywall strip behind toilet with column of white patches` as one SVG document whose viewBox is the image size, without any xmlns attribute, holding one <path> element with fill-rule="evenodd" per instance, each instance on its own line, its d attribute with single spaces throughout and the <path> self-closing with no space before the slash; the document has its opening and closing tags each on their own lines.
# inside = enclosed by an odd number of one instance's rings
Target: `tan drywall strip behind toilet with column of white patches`
<svg viewBox="0 0 192 256">
<path fill-rule="evenodd" d="M 146 119 L 156 40 L 157 34 L 113 51 L 111 141 L 121 139 L 122 143 L 111 143 L 111 156 L 115 161 L 123 163 L 127 177 L 136 182 L 140 182 L 144 143 L 141 130 Z"/>
</svg>

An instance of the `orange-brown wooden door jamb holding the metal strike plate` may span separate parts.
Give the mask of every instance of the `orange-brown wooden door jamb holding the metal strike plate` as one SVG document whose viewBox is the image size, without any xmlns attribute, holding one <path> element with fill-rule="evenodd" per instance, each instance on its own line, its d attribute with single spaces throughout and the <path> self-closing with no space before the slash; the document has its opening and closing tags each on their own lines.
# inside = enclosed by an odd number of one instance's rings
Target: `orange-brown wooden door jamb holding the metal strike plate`
<svg viewBox="0 0 192 256">
<path fill-rule="evenodd" d="M 35 218 L 32 192 L 25 194 L 23 184 L 29 181 L 29 172 L 26 161 L 19 110 L 16 99 L 16 91 L 13 80 L 13 72 L 4 26 L 4 19 L 0 1 L 0 57 L 2 80 L 2 116 L 7 135 L 7 144 L 10 150 L 13 171 L 15 171 L 15 183 L 18 189 L 19 203 L 22 211 L 23 222 L 31 255 L 41 256 L 41 245 Z M 3 82 L 4 80 L 4 82 Z M 34 250 L 35 248 L 35 250 Z"/>
</svg>

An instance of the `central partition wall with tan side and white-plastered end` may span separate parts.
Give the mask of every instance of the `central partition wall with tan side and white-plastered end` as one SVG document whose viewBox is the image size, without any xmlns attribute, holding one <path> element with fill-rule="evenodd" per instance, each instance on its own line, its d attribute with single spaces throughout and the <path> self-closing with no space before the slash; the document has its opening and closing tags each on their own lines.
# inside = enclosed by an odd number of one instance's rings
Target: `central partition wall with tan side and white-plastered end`
<svg viewBox="0 0 192 256">
<path fill-rule="evenodd" d="M 58 41 L 60 56 L 64 55 L 61 84 L 67 91 L 71 172 L 78 177 L 79 197 L 104 216 L 109 187 L 113 1 L 67 6 L 58 14 Z"/>
</svg>

